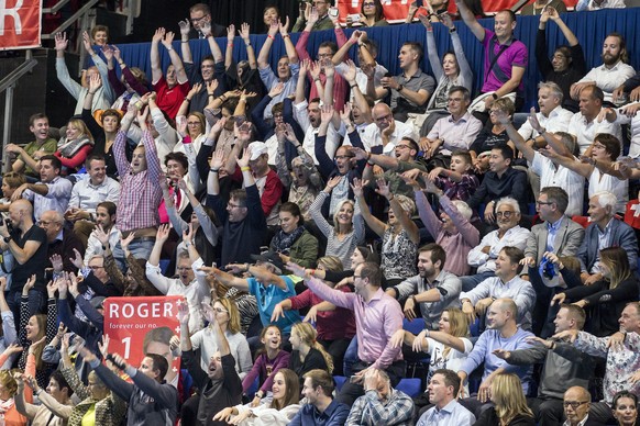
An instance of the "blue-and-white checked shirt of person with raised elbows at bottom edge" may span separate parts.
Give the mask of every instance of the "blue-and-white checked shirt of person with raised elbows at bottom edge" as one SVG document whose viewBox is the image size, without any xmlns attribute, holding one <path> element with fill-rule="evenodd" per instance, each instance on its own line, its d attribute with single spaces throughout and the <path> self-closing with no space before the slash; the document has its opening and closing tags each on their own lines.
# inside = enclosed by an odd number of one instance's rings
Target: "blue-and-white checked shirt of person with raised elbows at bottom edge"
<svg viewBox="0 0 640 426">
<path fill-rule="evenodd" d="M 355 400 L 345 426 L 409 426 L 413 422 L 413 400 L 406 393 L 390 389 L 386 401 L 376 391 L 368 391 Z"/>
</svg>

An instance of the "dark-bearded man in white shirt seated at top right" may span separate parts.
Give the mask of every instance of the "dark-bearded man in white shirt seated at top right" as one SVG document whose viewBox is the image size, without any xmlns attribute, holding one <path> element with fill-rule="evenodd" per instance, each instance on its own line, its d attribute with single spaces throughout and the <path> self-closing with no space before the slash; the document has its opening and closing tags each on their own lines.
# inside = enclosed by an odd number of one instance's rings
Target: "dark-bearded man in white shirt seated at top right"
<svg viewBox="0 0 640 426">
<path fill-rule="evenodd" d="M 633 67 L 626 64 L 629 60 L 627 44 L 620 34 L 607 35 L 600 56 L 604 64 L 592 68 L 586 76 L 571 86 L 573 99 L 578 100 L 581 91 L 585 87 L 597 86 L 605 93 L 605 102 L 613 102 L 614 91 L 636 75 Z"/>
</svg>

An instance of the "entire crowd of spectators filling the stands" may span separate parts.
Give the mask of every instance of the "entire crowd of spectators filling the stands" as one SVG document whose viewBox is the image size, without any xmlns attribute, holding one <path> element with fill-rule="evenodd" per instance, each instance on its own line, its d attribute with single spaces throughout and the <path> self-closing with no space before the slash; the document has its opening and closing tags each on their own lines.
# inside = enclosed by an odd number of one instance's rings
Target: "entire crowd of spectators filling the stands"
<svg viewBox="0 0 640 426">
<path fill-rule="evenodd" d="M 35 139 L 5 153 L 3 424 L 633 425 L 640 78 L 625 40 L 587 71 L 562 1 L 536 1 L 543 80 L 525 81 L 511 11 L 488 30 L 456 0 L 485 47 L 471 64 L 446 7 L 411 5 L 427 37 L 400 47 L 398 76 L 322 0 L 295 20 L 265 8 L 260 49 L 196 4 L 153 35 L 148 80 L 97 26 L 77 82 L 56 34 L 75 115 L 54 130 L 34 111 Z M 604 7 L 619 4 L 576 9 Z M 347 26 L 385 25 L 382 10 L 364 0 Z M 548 58 L 551 22 L 569 45 Z M 335 41 L 309 52 L 322 30 Z M 520 113 L 536 83 L 539 109 Z M 179 333 L 150 332 L 140 366 L 103 329 L 123 295 L 183 298 Z M 409 362 L 423 394 L 398 389 Z"/>
</svg>

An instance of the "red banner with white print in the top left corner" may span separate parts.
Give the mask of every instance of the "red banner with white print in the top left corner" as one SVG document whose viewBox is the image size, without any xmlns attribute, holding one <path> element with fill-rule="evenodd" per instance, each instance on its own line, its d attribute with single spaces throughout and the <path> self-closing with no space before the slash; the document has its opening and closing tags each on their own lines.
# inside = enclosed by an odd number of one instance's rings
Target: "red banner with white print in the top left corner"
<svg viewBox="0 0 640 426">
<path fill-rule="evenodd" d="M 40 47 L 42 1 L 0 0 L 0 51 Z"/>
</svg>

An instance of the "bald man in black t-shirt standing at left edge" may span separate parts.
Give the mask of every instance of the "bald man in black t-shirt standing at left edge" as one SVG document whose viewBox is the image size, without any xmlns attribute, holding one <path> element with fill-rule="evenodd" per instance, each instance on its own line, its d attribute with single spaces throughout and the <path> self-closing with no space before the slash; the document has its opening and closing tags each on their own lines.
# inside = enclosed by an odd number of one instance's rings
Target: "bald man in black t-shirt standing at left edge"
<svg viewBox="0 0 640 426">
<path fill-rule="evenodd" d="M 20 324 L 22 289 L 32 274 L 35 274 L 35 285 L 29 292 L 30 315 L 44 312 L 46 306 L 43 267 L 46 262 L 46 233 L 33 223 L 32 217 L 33 206 L 27 200 L 22 199 L 9 205 L 10 228 L 4 221 L 0 221 L 0 250 L 11 250 L 15 259 L 7 302 L 16 324 Z"/>
</svg>

